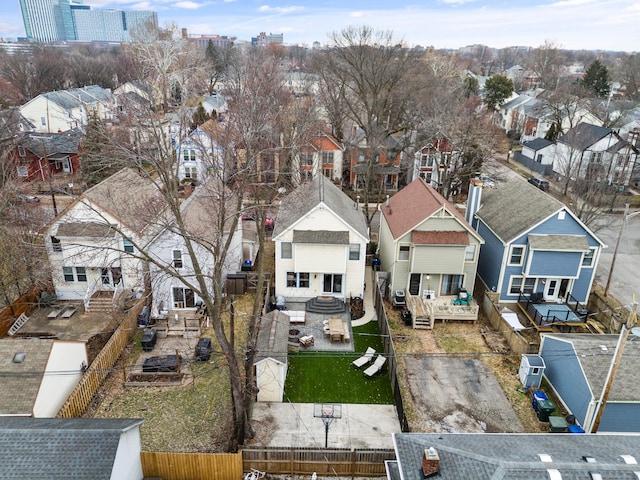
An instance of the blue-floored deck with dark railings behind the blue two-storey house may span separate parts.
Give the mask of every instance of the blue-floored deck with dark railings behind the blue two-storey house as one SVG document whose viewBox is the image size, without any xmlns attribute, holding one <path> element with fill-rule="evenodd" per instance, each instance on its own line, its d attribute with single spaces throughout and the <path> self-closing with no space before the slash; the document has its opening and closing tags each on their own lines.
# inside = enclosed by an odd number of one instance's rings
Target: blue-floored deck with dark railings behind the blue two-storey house
<svg viewBox="0 0 640 480">
<path fill-rule="evenodd" d="M 565 300 L 545 302 L 541 293 L 520 293 L 518 308 L 526 315 L 538 332 L 570 333 L 591 332 L 588 310 L 569 295 Z"/>
</svg>

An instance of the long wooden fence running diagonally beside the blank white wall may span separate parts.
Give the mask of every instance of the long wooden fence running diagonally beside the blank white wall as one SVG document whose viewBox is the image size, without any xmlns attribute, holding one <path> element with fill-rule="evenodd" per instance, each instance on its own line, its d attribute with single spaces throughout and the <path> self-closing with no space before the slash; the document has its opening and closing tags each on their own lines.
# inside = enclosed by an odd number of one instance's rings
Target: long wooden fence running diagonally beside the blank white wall
<svg viewBox="0 0 640 480">
<path fill-rule="evenodd" d="M 116 361 L 122 355 L 124 347 L 135 335 L 138 326 L 138 313 L 142 310 L 145 298 L 143 297 L 132 309 L 130 309 L 122 322 L 113 332 L 104 348 L 91 362 L 76 387 L 73 389 L 67 401 L 64 402 L 56 417 L 73 418 L 80 417 L 87 409 L 96 391 L 109 374 Z"/>
</svg>

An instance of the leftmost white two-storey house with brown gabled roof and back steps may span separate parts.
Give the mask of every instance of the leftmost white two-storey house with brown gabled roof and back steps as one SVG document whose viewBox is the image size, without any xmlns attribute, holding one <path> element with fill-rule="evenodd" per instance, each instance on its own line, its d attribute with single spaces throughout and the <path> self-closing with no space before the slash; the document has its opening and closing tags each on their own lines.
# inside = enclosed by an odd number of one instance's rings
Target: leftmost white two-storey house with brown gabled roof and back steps
<svg viewBox="0 0 640 480">
<path fill-rule="evenodd" d="M 165 203 L 153 182 L 125 168 L 74 200 L 45 231 L 53 285 L 62 300 L 144 290 L 135 257 L 161 228 Z"/>
</svg>

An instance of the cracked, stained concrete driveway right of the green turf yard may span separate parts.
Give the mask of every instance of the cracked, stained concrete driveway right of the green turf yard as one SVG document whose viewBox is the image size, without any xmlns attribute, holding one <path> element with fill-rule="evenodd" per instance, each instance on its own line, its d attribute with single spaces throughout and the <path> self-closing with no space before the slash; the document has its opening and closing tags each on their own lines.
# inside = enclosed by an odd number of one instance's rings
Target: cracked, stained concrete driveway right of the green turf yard
<svg viewBox="0 0 640 480">
<path fill-rule="evenodd" d="M 473 358 L 407 357 L 407 381 L 422 432 L 523 432 L 486 365 Z"/>
</svg>

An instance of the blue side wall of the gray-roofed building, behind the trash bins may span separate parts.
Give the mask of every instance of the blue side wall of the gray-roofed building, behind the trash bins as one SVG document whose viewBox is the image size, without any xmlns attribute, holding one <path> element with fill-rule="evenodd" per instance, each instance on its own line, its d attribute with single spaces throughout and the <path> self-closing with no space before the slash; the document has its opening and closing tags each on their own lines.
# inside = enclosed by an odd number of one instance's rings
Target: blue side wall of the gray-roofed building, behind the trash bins
<svg viewBox="0 0 640 480">
<path fill-rule="evenodd" d="M 584 425 L 593 395 L 576 357 L 573 345 L 545 337 L 540 355 L 546 365 L 544 375 L 571 413 Z"/>
</svg>

